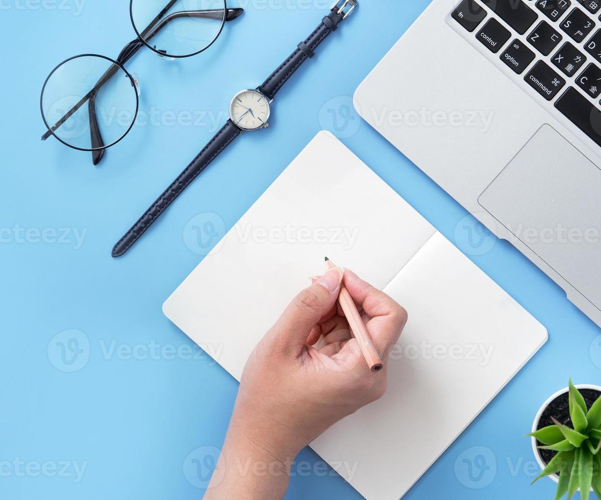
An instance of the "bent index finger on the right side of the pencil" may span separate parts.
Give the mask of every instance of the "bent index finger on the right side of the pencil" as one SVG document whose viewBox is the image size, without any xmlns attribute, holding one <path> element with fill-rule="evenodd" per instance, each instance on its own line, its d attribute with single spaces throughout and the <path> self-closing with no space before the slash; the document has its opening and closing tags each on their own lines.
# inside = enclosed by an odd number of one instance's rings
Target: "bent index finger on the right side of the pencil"
<svg viewBox="0 0 601 500">
<path fill-rule="evenodd" d="M 407 323 L 407 311 L 383 291 L 377 290 L 347 269 L 344 271 L 344 286 L 355 303 L 363 309 L 364 315 L 367 315 L 365 327 L 385 363 L 388 350 L 397 343 Z"/>
</svg>

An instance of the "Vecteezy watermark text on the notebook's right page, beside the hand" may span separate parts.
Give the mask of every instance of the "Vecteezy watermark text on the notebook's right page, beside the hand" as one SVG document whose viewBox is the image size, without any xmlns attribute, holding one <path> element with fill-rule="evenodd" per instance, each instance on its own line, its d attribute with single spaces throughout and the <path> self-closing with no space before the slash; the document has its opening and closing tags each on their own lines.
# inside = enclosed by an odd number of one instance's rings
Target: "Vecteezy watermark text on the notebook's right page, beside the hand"
<svg viewBox="0 0 601 500">
<path fill-rule="evenodd" d="M 389 352 L 389 359 L 425 359 L 426 361 L 474 361 L 484 367 L 490 362 L 495 346 L 493 344 L 430 344 L 422 340 L 419 344 L 395 344 Z"/>
</svg>

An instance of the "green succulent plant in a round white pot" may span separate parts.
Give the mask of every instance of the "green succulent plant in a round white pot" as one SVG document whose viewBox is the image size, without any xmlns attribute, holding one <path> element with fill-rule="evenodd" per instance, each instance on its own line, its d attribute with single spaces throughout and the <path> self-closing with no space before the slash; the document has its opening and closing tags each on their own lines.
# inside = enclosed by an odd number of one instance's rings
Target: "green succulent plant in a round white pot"
<svg viewBox="0 0 601 500">
<path fill-rule="evenodd" d="M 601 386 L 579 385 L 552 395 L 536 415 L 532 448 L 543 471 L 534 481 L 557 482 L 555 499 L 568 499 L 580 489 L 588 500 L 593 491 L 601 500 Z"/>
</svg>

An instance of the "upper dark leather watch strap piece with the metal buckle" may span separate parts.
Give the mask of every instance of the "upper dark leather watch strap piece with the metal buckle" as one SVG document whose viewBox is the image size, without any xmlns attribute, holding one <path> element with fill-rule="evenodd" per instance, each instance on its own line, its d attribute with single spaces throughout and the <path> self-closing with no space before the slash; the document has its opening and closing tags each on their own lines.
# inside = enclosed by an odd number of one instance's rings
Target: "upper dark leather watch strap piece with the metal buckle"
<svg viewBox="0 0 601 500">
<path fill-rule="evenodd" d="M 309 35 L 307 40 L 299 43 L 296 50 L 291 53 L 282 64 L 263 82 L 258 90 L 269 99 L 273 99 L 278 90 L 288 81 L 294 72 L 299 69 L 301 64 L 308 58 L 313 57 L 314 50 L 323 40 L 338 28 L 338 25 L 355 8 L 355 0 L 341 0 L 332 7 L 331 12 L 322 19 L 315 31 Z M 349 7 L 350 6 L 350 7 Z"/>
</svg>

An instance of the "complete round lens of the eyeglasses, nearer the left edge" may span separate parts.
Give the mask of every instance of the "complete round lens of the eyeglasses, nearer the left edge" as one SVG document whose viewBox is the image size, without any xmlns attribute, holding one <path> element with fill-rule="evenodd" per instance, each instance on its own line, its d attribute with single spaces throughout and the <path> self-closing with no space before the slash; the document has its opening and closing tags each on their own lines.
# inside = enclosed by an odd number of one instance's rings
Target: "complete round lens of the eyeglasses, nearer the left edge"
<svg viewBox="0 0 601 500">
<path fill-rule="evenodd" d="M 40 106 L 48 134 L 79 150 L 101 150 L 132 128 L 138 91 L 132 76 L 112 59 L 79 55 L 52 70 Z"/>
</svg>

